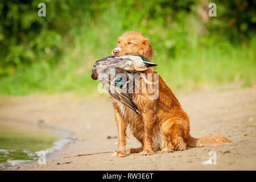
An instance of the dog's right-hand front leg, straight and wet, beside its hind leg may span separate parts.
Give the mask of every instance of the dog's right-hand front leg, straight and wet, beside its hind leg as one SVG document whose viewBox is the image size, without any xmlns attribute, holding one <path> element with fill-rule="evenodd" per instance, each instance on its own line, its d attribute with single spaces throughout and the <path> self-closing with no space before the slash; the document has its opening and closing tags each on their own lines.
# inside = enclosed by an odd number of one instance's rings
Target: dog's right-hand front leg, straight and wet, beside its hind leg
<svg viewBox="0 0 256 182">
<path fill-rule="evenodd" d="M 148 111 L 142 113 L 142 118 L 144 122 L 144 143 L 141 155 L 152 155 L 154 154 L 152 137 L 155 115 L 153 112 Z"/>
</svg>

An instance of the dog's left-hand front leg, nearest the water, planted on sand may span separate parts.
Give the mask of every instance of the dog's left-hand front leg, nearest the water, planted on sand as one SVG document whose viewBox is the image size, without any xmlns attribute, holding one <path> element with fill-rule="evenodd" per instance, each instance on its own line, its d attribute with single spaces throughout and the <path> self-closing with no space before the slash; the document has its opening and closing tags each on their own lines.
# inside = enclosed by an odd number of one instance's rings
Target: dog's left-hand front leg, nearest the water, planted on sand
<svg viewBox="0 0 256 182">
<path fill-rule="evenodd" d="M 118 148 L 112 156 L 126 156 L 125 145 L 126 145 L 126 121 L 121 117 L 118 111 L 115 112 L 115 121 L 117 122 L 118 130 Z"/>
</svg>

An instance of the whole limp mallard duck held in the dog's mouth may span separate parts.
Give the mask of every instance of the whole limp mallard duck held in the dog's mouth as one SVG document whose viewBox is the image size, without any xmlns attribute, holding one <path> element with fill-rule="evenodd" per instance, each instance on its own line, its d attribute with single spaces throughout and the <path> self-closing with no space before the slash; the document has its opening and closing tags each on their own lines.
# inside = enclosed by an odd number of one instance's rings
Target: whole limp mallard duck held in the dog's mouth
<svg viewBox="0 0 256 182">
<path fill-rule="evenodd" d="M 147 60 L 146 57 L 137 54 L 119 57 L 108 56 L 96 61 L 91 76 L 93 80 L 101 81 L 114 100 L 121 102 L 137 114 L 141 114 L 130 92 L 133 87 L 129 87 L 129 80 L 133 80 L 133 75 L 129 73 L 145 71 L 156 65 Z M 120 73 L 125 77 L 120 76 Z"/>
</svg>

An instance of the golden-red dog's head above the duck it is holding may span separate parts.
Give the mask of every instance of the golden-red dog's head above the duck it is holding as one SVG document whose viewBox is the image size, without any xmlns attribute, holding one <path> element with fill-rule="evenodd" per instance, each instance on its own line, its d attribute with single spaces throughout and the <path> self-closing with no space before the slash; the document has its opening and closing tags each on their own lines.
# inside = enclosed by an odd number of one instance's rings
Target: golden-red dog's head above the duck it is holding
<svg viewBox="0 0 256 182">
<path fill-rule="evenodd" d="M 112 55 L 121 56 L 127 53 L 138 53 L 151 60 L 155 52 L 150 45 L 150 40 L 146 39 L 141 32 L 129 31 L 118 38 L 117 47 L 113 49 Z"/>
</svg>

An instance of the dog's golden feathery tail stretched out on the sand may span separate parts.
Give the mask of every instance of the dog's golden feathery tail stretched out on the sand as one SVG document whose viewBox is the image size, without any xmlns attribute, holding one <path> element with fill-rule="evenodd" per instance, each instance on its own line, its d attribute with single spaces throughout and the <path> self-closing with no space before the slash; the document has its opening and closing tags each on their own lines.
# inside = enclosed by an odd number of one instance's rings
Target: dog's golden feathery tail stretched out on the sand
<svg viewBox="0 0 256 182">
<path fill-rule="evenodd" d="M 188 147 L 204 147 L 204 146 L 214 146 L 220 143 L 231 143 L 232 140 L 222 136 L 222 135 L 214 135 L 210 137 L 201 137 L 201 138 L 193 138 L 191 135 L 188 136 L 187 146 Z"/>
</svg>

